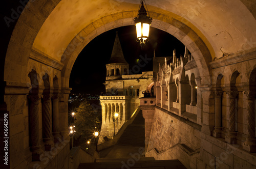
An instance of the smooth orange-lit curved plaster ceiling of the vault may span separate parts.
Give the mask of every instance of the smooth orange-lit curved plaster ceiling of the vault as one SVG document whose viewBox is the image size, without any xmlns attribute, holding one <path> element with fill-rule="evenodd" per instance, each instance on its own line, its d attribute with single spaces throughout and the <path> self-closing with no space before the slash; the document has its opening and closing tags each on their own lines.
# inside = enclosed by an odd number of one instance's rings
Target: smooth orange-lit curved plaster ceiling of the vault
<svg viewBox="0 0 256 169">
<path fill-rule="evenodd" d="M 63 0 L 42 25 L 33 47 L 60 61 L 59 55 L 84 27 L 104 16 L 120 19 L 131 11 L 136 15 L 138 3 L 135 0 Z M 148 0 L 146 3 L 149 11 L 173 17 L 194 30 L 210 50 L 212 60 L 256 47 L 256 20 L 239 0 L 161 3 Z M 122 16 L 114 15 L 119 12 Z"/>
</svg>

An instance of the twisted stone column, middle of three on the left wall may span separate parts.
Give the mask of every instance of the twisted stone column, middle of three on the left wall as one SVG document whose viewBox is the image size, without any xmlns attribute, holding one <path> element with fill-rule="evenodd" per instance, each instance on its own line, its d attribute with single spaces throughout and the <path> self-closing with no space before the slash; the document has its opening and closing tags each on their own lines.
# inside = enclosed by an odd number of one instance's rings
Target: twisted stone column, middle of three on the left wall
<svg viewBox="0 0 256 169">
<path fill-rule="evenodd" d="M 45 142 L 45 150 L 49 151 L 53 144 L 51 97 L 49 94 L 44 94 L 42 99 L 42 138 Z"/>
</svg>

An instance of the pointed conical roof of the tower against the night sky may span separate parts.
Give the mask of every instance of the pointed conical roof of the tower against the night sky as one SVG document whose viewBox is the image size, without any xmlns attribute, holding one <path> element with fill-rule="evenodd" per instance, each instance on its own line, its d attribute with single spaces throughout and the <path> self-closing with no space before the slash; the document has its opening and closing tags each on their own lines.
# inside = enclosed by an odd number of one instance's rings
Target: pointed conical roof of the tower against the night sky
<svg viewBox="0 0 256 169">
<path fill-rule="evenodd" d="M 116 32 L 116 39 L 114 42 L 111 58 L 108 64 L 112 64 L 112 63 L 128 64 L 123 57 L 123 51 L 122 51 L 122 47 L 121 47 L 117 32 Z"/>
</svg>

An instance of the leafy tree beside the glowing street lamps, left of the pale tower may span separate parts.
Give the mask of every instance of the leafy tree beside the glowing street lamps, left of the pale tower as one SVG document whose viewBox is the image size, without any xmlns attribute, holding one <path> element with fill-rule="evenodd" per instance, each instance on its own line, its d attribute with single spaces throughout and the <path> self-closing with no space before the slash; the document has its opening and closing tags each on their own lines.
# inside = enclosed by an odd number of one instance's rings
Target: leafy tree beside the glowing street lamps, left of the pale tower
<svg viewBox="0 0 256 169">
<path fill-rule="evenodd" d="M 88 101 L 84 100 L 80 103 L 79 107 L 75 108 L 75 137 L 79 138 L 80 143 L 85 142 L 88 137 L 93 135 L 95 127 L 97 127 L 97 129 L 101 127 L 101 108 L 99 108 L 99 105 L 96 107 L 97 108 L 95 108 L 95 105 L 91 105 Z"/>
</svg>

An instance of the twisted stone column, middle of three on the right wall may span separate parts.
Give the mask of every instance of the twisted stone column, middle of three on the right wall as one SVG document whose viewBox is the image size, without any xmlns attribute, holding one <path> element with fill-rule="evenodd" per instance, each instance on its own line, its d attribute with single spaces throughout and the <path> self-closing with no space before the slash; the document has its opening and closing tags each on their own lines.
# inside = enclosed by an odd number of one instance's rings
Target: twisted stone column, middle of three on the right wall
<svg viewBox="0 0 256 169">
<path fill-rule="evenodd" d="M 227 91 L 229 97 L 229 126 L 228 134 L 225 138 L 227 143 L 236 144 L 236 97 L 238 95 L 237 91 Z"/>
</svg>

